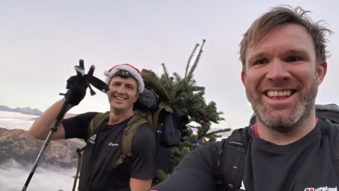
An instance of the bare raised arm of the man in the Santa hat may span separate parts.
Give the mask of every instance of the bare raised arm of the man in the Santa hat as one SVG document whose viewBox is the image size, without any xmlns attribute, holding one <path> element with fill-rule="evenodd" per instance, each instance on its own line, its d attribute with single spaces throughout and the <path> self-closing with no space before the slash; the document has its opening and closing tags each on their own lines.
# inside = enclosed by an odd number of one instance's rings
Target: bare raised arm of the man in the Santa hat
<svg viewBox="0 0 339 191">
<path fill-rule="evenodd" d="M 28 130 L 28 134 L 30 134 L 35 139 L 46 139 L 49 134 L 49 127 L 53 124 L 57 115 L 59 114 L 63 103 L 61 100 L 54 103 L 51 107 L 49 107 L 45 112 L 38 117 L 33 123 L 32 127 Z M 70 106 L 67 110 L 71 109 Z M 54 132 L 52 139 L 64 139 L 64 127 L 61 122 L 58 126 L 58 131 Z"/>
</svg>

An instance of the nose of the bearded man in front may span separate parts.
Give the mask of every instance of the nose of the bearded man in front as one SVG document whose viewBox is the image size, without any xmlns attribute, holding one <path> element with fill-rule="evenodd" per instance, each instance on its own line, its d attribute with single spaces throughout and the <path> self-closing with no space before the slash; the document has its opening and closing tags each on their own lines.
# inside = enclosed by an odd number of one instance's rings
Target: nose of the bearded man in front
<svg viewBox="0 0 339 191">
<path fill-rule="evenodd" d="M 291 74 L 287 70 L 287 64 L 288 63 L 285 63 L 281 59 L 273 59 L 273 61 L 269 64 L 266 77 L 274 81 L 290 78 Z"/>
</svg>

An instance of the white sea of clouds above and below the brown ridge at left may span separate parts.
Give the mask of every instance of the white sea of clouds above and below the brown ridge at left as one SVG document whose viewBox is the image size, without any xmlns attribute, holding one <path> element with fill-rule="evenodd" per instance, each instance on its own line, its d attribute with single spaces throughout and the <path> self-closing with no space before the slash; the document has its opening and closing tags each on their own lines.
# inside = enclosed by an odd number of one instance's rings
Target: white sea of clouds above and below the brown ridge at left
<svg viewBox="0 0 339 191">
<path fill-rule="evenodd" d="M 6 129 L 28 130 L 37 116 L 24 115 L 18 112 L 0 111 L 0 127 Z M 18 191 L 32 170 L 33 164 L 20 164 L 14 160 L 0 164 L 0 190 Z M 69 191 L 73 188 L 73 176 L 76 168 L 63 169 L 46 164 L 39 164 L 30 180 L 27 191 Z"/>
</svg>

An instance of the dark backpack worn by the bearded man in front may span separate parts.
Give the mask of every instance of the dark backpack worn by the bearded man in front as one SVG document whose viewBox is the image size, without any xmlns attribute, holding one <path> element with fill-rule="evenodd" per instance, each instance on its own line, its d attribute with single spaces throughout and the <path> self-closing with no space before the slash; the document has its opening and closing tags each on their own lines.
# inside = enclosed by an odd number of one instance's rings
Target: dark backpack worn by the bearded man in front
<svg viewBox="0 0 339 191">
<path fill-rule="evenodd" d="M 336 140 L 339 132 L 339 106 L 335 104 L 316 105 L 316 117 L 324 120 L 328 126 L 328 130 L 323 131 L 322 136 L 328 136 L 333 166 L 339 178 L 339 140 Z M 248 127 L 235 129 L 230 137 L 222 140 L 223 143 L 218 147 L 219 157 L 217 172 L 215 172 L 216 190 L 242 190 L 248 146 L 247 132 L 254 124 L 256 124 L 256 115 L 251 116 Z"/>
</svg>

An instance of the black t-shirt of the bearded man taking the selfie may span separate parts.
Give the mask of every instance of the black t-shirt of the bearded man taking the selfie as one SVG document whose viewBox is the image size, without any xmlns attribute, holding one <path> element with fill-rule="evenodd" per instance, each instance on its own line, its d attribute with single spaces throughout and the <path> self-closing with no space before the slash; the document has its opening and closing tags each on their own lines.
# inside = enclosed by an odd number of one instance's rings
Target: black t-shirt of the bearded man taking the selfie
<svg viewBox="0 0 339 191">
<path fill-rule="evenodd" d="M 319 120 L 305 137 L 283 146 L 254 137 L 254 132 L 249 129 L 250 144 L 246 154 L 242 189 L 338 190 L 339 180 L 331 161 L 328 137 L 321 137 L 323 128 L 327 128 L 326 124 Z M 167 180 L 151 190 L 215 190 L 213 172 L 217 168 L 217 146 L 224 142 L 225 140 L 207 144 L 192 151 L 181 161 L 173 175 L 169 175 Z"/>
</svg>

